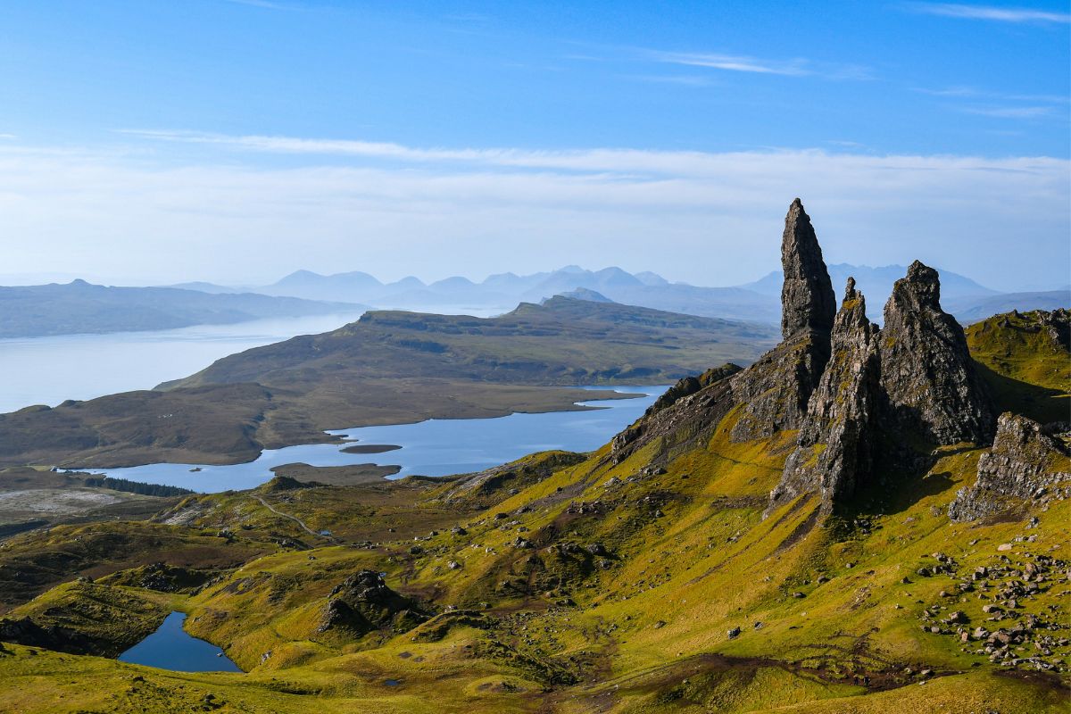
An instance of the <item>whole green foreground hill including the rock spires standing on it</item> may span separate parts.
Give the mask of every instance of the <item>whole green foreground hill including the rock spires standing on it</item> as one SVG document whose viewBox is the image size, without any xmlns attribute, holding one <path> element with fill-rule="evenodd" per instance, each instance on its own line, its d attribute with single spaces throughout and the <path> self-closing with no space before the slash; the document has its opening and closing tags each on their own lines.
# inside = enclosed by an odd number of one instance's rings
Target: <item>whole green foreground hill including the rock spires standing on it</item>
<svg viewBox="0 0 1071 714">
<path fill-rule="evenodd" d="M 877 329 L 851 282 L 835 304 L 798 201 L 783 246 L 782 341 L 681 380 L 592 454 L 280 481 L 12 538 L 0 568 L 37 579 L 0 593 L 0 674 L 18 683 L 0 707 L 1066 712 L 1066 425 L 997 416 L 1011 402 L 936 271 L 910 265 Z M 999 376 L 1071 356 L 1066 315 L 1030 319 L 979 330 L 1006 346 Z M 169 566 L 145 562 L 151 543 Z M 79 572 L 95 581 L 29 599 Z M 169 608 L 247 673 L 86 656 Z"/>
</svg>

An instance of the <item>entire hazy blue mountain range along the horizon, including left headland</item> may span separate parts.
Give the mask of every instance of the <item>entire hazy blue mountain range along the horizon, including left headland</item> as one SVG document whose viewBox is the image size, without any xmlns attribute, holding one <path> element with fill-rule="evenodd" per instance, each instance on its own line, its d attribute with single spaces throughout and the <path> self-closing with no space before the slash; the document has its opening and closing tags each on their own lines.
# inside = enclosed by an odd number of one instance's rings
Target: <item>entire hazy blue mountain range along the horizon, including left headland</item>
<svg viewBox="0 0 1071 714">
<path fill-rule="evenodd" d="M 881 321 L 902 265 L 829 267 L 835 286 L 849 275 L 868 299 L 869 314 Z M 261 287 L 184 283 L 168 287 L 106 287 L 85 280 L 0 287 L 0 338 L 77 333 L 170 330 L 193 324 L 229 324 L 269 317 L 408 309 L 492 316 L 518 303 L 540 303 L 564 294 L 652 309 L 776 324 L 781 317 L 781 271 L 744 285 L 698 287 L 670 283 L 651 272 L 620 268 L 598 271 L 567 265 L 552 272 L 499 273 L 481 283 L 448 277 L 425 284 L 416 277 L 381 283 L 362 272 L 319 275 L 300 270 Z M 950 271 L 941 271 L 941 304 L 961 322 L 971 323 L 1012 309 L 1071 306 L 1071 290 L 998 292 Z"/>
</svg>

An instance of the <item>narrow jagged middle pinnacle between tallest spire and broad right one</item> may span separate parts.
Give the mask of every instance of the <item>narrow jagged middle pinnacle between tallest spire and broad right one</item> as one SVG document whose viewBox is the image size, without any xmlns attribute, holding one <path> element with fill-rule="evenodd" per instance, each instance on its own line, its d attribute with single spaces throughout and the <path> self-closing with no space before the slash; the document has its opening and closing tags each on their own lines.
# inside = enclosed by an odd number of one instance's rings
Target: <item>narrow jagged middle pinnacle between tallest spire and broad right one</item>
<svg viewBox="0 0 1071 714">
<path fill-rule="evenodd" d="M 819 492 L 828 513 L 835 500 L 855 491 L 857 477 L 871 466 L 879 371 L 878 329 L 866 318 L 855 279 L 848 278 L 833 322 L 832 356 L 811 395 L 781 484 L 770 493 L 768 514 L 812 490 Z"/>
</svg>

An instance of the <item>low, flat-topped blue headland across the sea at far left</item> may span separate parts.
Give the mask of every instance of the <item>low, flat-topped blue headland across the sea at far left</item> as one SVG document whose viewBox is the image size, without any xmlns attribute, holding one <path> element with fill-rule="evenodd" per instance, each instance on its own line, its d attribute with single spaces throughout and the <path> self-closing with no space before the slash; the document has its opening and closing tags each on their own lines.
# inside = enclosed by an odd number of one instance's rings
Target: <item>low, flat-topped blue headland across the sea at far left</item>
<svg viewBox="0 0 1071 714">
<path fill-rule="evenodd" d="M 172 330 L 261 318 L 363 312 L 363 305 L 256 293 L 67 284 L 0 287 L 0 338 Z"/>
</svg>

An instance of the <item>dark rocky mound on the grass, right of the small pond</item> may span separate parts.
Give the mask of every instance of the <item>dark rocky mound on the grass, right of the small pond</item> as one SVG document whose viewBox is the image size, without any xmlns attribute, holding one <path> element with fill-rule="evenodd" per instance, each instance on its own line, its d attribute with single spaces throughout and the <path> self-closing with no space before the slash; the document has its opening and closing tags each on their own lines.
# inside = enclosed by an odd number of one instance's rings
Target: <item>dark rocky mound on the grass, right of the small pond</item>
<svg viewBox="0 0 1071 714">
<path fill-rule="evenodd" d="M 417 604 L 390 588 L 375 571 L 359 571 L 328 596 L 317 632 L 345 629 L 360 636 L 373 629 L 411 629 L 427 617 Z"/>
</svg>

